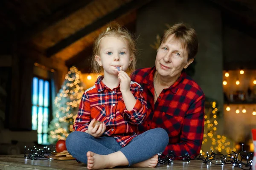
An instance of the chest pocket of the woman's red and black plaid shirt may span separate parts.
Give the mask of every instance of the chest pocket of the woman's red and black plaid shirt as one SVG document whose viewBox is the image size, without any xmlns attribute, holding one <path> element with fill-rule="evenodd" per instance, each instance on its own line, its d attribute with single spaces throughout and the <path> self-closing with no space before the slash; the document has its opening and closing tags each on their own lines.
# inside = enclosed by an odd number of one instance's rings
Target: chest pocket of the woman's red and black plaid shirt
<svg viewBox="0 0 256 170">
<path fill-rule="evenodd" d="M 184 122 L 183 116 L 174 115 L 173 113 L 174 112 L 163 112 L 163 124 L 167 128 L 169 136 L 179 135 Z"/>
</svg>

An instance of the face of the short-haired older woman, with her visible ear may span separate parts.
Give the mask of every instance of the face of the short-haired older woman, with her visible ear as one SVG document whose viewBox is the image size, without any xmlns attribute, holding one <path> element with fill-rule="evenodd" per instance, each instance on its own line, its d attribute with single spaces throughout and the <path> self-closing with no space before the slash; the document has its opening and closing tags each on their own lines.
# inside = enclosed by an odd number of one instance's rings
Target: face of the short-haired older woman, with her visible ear
<svg viewBox="0 0 256 170">
<path fill-rule="evenodd" d="M 166 78 L 177 79 L 183 68 L 187 68 L 193 59 L 188 61 L 188 53 L 179 40 L 170 35 L 157 50 L 156 69 L 158 74 Z"/>
</svg>

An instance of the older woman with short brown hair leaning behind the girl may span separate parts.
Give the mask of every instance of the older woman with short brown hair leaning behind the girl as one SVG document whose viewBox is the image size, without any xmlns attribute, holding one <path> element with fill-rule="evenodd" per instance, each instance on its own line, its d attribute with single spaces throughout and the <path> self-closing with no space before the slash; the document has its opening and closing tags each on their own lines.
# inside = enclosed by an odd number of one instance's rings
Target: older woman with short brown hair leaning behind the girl
<svg viewBox="0 0 256 170">
<path fill-rule="evenodd" d="M 198 51 L 195 30 L 176 24 L 163 35 L 157 49 L 155 66 L 131 74 L 145 92 L 149 116 L 139 130 L 162 127 L 169 134 L 169 144 L 163 152 L 182 156 L 197 156 L 204 134 L 205 96 L 186 69 Z"/>
</svg>

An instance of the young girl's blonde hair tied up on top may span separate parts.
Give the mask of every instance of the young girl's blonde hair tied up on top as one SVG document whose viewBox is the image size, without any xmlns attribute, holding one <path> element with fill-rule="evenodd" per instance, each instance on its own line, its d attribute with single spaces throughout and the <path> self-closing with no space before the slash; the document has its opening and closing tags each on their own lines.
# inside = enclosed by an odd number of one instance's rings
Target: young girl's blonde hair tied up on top
<svg viewBox="0 0 256 170">
<path fill-rule="evenodd" d="M 126 72 L 132 72 L 136 68 L 136 58 L 135 56 L 137 55 L 137 50 L 136 50 L 136 40 L 135 38 L 128 32 L 126 28 L 121 27 L 118 23 L 116 22 L 111 22 L 108 24 L 108 28 L 105 32 L 102 32 L 99 34 L 99 37 L 96 38 L 93 44 L 93 58 L 92 58 L 92 71 L 95 73 L 102 73 L 103 68 L 99 66 L 98 62 L 95 59 L 95 56 L 99 55 L 100 51 L 100 42 L 102 38 L 104 37 L 118 37 L 118 38 L 123 38 L 124 40 L 127 40 L 128 46 L 129 46 L 129 51 L 130 55 L 132 57 L 131 64 L 128 67 L 128 70 Z"/>
</svg>

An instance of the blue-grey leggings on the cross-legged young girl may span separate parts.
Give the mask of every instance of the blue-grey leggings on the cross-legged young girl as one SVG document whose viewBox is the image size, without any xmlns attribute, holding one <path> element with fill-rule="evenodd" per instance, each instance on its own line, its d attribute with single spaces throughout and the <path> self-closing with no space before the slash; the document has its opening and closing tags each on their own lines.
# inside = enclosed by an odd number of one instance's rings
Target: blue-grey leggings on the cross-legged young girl
<svg viewBox="0 0 256 170">
<path fill-rule="evenodd" d="M 120 146 L 113 137 L 94 138 L 88 133 L 74 131 L 67 136 L 66 147 L 74 158 L 84 164 L 87 164 L 86 153 L 88 151 L 101 155 L 121 151 L 131 166 L 163 152 L 168 142 L 169 136 L 166 130 L 159 127 L 136 136 L 125 147 Z"/>
</svg>

